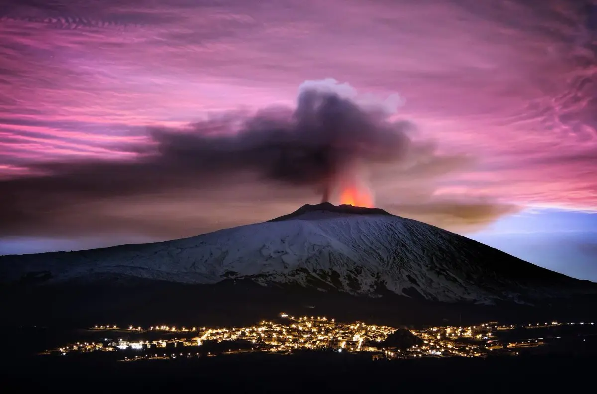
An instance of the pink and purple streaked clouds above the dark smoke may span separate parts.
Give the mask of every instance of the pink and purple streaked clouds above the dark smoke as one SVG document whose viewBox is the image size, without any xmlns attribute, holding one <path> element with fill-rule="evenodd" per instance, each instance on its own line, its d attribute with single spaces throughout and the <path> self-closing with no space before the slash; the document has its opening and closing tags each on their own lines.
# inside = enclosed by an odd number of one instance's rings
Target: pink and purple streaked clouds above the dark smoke
<svg viewBox="0 0 597 394">
<path fill-rule="evenodd" d="M 421 139 L 475 156 L 434 178 L 429 198 L 597 209 L 595 35 L 571 2 L 137 3 L 7 11 L 0 175 L 122 159 L 146 126 L 290 105 L 305 80 L 334 77 L 398 93 Z M 405 176 L 381 177 L 380 201 L 414 198 L 400 194 Z"/>
</svg>

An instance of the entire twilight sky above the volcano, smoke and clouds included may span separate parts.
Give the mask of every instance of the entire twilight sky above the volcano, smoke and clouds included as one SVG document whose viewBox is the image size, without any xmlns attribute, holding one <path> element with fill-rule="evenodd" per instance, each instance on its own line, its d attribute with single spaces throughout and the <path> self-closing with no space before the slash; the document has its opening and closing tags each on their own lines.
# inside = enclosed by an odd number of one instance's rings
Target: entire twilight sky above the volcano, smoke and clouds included
<svg viewBox="0 0 597 394">
<path fill-rule="evenodd" d="M 13 2 L 0 254 L 263 221 L 350 167 L 378 207 L 597 281 L 593 1 Z"/>
</svg>

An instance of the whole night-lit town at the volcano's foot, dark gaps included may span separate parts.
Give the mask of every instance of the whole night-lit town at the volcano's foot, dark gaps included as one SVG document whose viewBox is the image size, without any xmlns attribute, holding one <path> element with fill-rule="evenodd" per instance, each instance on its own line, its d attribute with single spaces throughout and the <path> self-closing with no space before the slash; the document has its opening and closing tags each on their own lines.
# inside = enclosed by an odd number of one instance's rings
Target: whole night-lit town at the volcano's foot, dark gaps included
<svg viewBox="0 0 597 394">
<path fill-rule="evenodd" d="M 282 312 L 273 321 L 261 321 L 251 327 L 95 325 L 85 330 L 82 338 L 40 354 L 93 357 L 110 353 L 119 361 L 257 352 L 292 355 L 304 351 L 355 353 L 371 360 L 518 356 L 521 352 L 528 355 L 567 348 L 574 352 L 589 349 L 597 341 L 597 328 L 593 322 L 550 321 L 396 330 L 363 322 L 336 322 L 327 317 L 294 317 Z M 574 338 L 576 343 L 570 342 Z"/>
</svg>

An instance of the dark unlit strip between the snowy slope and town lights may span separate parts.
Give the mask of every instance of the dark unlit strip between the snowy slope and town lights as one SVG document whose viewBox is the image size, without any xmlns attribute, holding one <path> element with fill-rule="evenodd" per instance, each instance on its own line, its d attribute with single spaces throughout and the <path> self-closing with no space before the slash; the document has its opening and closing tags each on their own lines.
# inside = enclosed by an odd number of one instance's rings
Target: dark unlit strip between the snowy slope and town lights
<svg viewBox="0 0 597 394">
<path fill-rule="evenodd" d="M 351 296 L 316 288 L 259 286 L 250 280 L 185 285 L 106 280 L 61 286 L 0 287 L 5 325 L 93 327 L 118 325 L 242 325 L 280 312 L 338 321 L 390 325 L 474 325 L 487 321 L 597 321 L 597 294 L 547 299 L 541 305 L 439 303 L 397 296 Z"/>
</svg>

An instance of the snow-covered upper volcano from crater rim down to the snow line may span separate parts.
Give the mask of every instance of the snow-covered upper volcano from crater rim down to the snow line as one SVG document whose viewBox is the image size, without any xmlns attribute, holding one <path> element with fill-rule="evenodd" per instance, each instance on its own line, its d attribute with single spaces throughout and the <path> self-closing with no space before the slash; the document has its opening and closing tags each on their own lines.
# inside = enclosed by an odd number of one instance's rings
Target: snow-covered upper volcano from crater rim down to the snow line
<svg viewBox="0 0 597 394">
<path fill-rule="evenodd" d="M 445 302 L 564 296 L 594 286 L 381 209 L 306 205 L 269 222 L 182 240 L 0 257 L 2 283 L 93 281 L 106 275 L 193 284 L 251 278 Z"/>
</svg>

